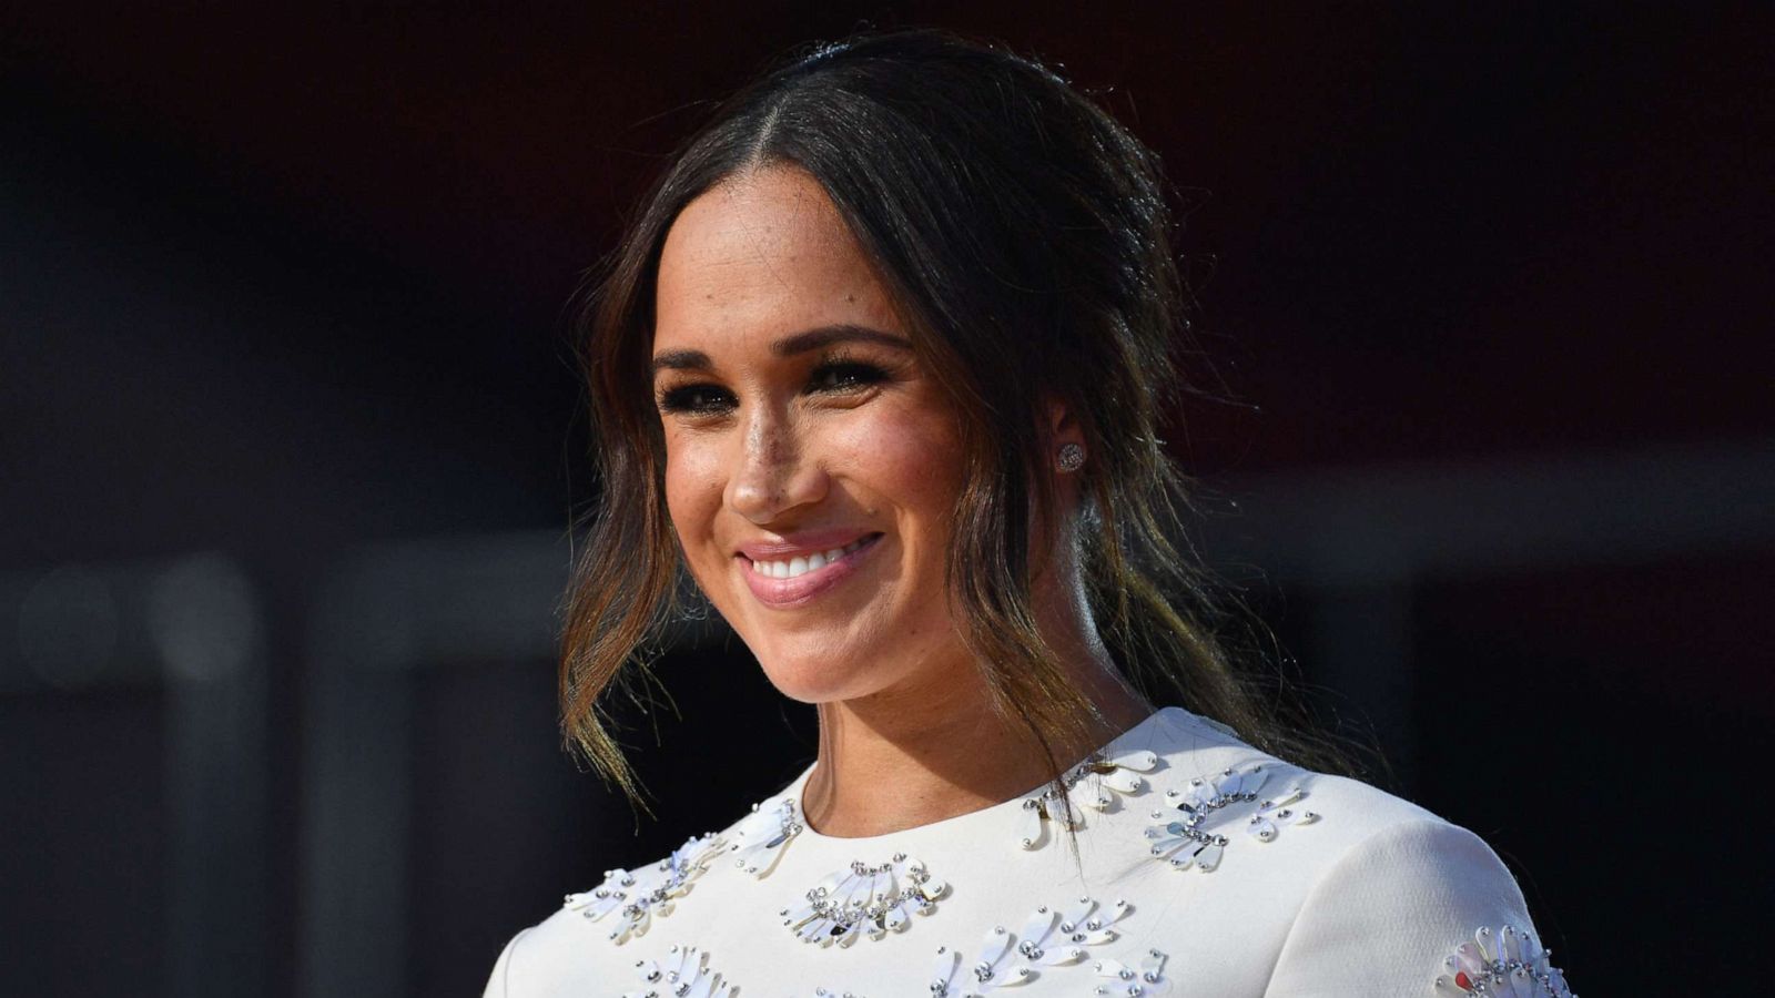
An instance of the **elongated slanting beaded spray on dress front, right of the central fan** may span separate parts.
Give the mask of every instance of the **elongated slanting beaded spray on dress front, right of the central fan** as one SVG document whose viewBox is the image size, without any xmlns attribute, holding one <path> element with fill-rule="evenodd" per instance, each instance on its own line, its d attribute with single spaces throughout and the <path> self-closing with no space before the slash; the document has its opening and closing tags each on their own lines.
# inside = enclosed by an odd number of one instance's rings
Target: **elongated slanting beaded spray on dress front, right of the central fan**
<svg viewBox="0 0 1775 998">
<path fill-rule="evenodd" d="M 978 998 L 1040 977 L 1037 968 L 1083 962 L 1090 959 L 1085 947 L 1116 939 L 1111 925 L 1129 911 L 1131 906 L 1118 900 L 1109 911 L 1097 915 L 1097 902 L 1088 897 L 1081 897 L 1063 913 L 1045 906 L 1037 907 L 1019 934 L 1003 925 L 989 929 L 971 964 L 962 962 L 960 952 L 939 947 L 928 991 L 932 998 Z M 1099 966 L 1104 962 L 1108 961 L 1099 961 Z"/>
</svg>

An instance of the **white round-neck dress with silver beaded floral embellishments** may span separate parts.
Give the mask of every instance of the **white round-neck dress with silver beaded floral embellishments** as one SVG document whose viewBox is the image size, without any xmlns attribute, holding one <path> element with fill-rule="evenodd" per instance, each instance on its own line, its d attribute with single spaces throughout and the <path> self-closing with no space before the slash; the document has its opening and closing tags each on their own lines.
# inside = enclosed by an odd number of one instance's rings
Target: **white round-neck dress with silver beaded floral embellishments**
<svg viewBox="0 0 1775 998">
<path fill-rule="evenodd" d="M 511 939 L 488 998 L 1566 996 L 1473 833 L 1168 707 L 1047 790 L 873 838 L 802 772 Z"/>
</svg>

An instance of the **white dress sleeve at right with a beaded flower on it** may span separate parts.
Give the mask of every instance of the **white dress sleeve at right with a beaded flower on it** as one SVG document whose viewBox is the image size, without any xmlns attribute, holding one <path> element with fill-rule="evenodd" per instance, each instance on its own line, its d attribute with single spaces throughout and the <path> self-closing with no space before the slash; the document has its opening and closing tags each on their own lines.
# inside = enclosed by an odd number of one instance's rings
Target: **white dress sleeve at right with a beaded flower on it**
<svg viewBox="0 0 1775 998">
<path fill-rule="evenodd" d="M 1573 998 L 1516 879 L 1477 835 L 1434 819 L 1351 847 L 1312 888 L 1266 996 Z"/>
</svg>

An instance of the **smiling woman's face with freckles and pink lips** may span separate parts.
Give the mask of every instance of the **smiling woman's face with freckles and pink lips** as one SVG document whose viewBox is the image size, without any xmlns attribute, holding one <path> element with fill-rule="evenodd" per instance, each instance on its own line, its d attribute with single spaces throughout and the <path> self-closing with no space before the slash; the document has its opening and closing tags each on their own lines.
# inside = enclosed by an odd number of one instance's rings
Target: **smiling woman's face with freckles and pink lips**
<svg viewBox="0 0 1775 998">
<path fill-rule="evenodd" d="M 772 167 L 692 201 L 655 316 L 673 526 L 770 682 L 831 703 L 964 661 L 944 586 L 955 414 L 820 185 Z"/>
</svg>

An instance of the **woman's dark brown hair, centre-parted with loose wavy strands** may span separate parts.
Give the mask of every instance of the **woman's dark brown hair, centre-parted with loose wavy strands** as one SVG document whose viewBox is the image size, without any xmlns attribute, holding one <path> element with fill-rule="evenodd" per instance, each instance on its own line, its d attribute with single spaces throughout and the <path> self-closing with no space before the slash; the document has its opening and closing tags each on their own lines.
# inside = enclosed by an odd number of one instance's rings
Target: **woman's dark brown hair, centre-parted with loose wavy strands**
<svg viewBox="0 0 1775 998">
<path fill-rule="evenodd" d="M 1037 62 L 941 32 L 815 48 L 721 105 L 644 201 L 582 321 L 604 503 L 566 600 L 568 739 L 634 794 L 600 698 L 657 653 L 683 584 L 648 380 L 655 272 L 698 195 L 742 170 L 811 174 L 912 325 L 919 362 L 964 426 L 948 584 L 998 707 L 1058 780 L 1093 705 L 1031 613 L 1031 524 L 1054 524 L 1045 401 L 1090 455 L 1079 522 L 1092 609 L 1124 673 L 1276 755 L 1322 756 L 1234 668 L 1232 620 L 1172 542 L 1182 481 L 1159 439 L 1184 332 L 1156 156 Z M 1049 535 L 1053 536 L 1053 535 Z"/>
</svg>

